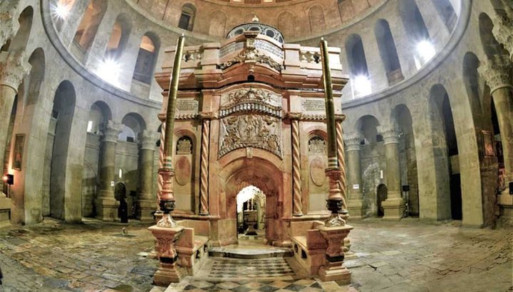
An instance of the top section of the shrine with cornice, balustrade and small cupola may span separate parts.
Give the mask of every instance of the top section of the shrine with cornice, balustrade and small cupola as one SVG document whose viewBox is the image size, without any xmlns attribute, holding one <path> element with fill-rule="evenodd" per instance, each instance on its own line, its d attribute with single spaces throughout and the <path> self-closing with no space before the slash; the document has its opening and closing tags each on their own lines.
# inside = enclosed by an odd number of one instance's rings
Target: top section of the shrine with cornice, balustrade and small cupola
<svg viewBox="0 0 513 292">
<path fill-rule="evenodd" d="M 271 30 L 274 34 L 268 33 Z M 282 43 L 283 36 L 276 28 L 257 21 L 236 26 L 228 37 L 222 43 L 184 48 L 180 90 L 214 89 L 245 81 L 298 90 L 323 89 L 318 47 Z M 173 47 L 165 51 L 162 72 L 155 74 L 165 91 L 170 85 L 175 50 Z M 340 54 L 340 48 L 328 48 L 335 91 L 341 91 L 348 81 L 348 76 L 342 74 Z"/>
</svg>

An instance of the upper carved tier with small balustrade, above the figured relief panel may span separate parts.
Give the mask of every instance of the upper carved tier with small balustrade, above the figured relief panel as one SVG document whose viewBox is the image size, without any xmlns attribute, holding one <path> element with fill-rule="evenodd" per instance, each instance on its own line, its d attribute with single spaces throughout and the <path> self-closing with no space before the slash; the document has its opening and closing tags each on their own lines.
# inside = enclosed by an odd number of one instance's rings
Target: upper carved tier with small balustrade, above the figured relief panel
<svg viewBox="0 0 513 292">
<path fill-rule="evenodd" d="M 262 112 L 281 117 L 281 97 L 269 90 L 242 89 L 221 97 L 220 117 L 237 112 Z"/>
</svg>

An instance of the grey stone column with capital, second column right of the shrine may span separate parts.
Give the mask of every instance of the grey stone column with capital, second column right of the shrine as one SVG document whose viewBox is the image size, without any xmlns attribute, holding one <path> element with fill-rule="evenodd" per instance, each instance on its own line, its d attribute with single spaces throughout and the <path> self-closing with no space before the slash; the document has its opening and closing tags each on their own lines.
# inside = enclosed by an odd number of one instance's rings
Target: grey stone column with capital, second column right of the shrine
<svg viewBox="0 0 513 292">
<path fill-rule="evenodd" d="M 383 202 L 383 219 L 399 220 L 405 211 L 401 194 L 399 168 L 399 139 L 393 126 L 378 126 L 385 140 L 387 199 Z"/>
</svg>

